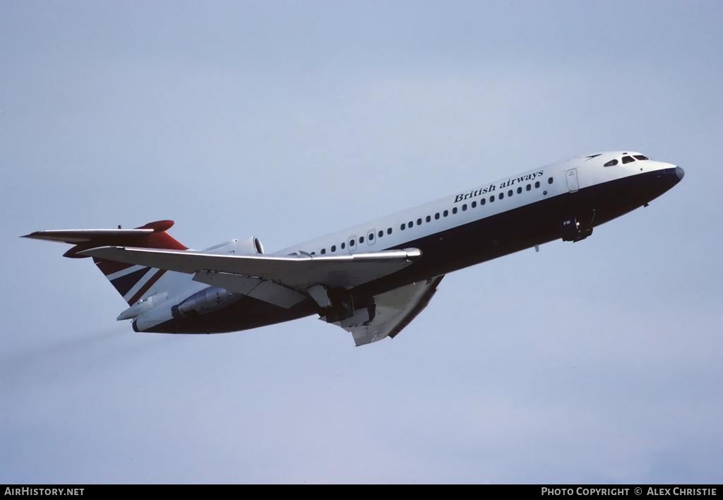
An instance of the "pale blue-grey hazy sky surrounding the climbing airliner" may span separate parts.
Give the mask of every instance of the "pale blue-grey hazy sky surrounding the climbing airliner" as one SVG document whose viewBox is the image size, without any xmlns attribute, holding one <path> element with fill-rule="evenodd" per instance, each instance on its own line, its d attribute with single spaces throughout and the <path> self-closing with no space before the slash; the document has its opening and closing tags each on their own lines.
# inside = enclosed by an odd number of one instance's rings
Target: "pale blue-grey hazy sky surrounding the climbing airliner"
<svg viewBox="0 0 723 500">
<path fill-rule="evenodd" d="M 723 4 L 0 3 L 0 483 L 721 483 Z M 267 251 L 553 161 L 680 185 L 397 338 L 136 334 L 40 229 Z"/>
</svg>

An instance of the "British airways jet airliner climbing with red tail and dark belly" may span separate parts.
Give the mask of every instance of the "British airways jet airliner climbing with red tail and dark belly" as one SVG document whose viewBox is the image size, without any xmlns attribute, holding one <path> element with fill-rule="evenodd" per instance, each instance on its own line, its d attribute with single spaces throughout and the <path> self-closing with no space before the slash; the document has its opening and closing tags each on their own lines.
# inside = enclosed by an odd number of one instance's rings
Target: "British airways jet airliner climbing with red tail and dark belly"
<svg viewBox="0 0 723 500">
<path fill-rule="evenodd" d="M 257 237 L 189 250 L 167 230 L 39 231 L 74 245 L 128 303 L 137 332 L 214 334 L 318 314 L 359 345 L 395 337 L 452 271 L 542 245 L 579 242 L 675 186 L 680 166 L 609 151 L 476 185 L 432 203 L 264 253 Z"/>
</svg>

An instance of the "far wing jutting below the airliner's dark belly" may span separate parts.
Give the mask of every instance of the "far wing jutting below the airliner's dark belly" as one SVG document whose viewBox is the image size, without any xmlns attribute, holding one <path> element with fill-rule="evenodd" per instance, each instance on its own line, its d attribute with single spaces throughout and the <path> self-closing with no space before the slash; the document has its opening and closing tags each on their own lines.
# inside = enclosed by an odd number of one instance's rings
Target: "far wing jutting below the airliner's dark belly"
<svg viewBox="0 0 723 500">
<path fill-rule="evenodd" d="M 359 315 L 354 315 L 333 324 L 351 333 L 357 346 L 377 342 L 387 336 L 393 338 L 427 307 L 442 278 L 444 276 L 437 276 L 376 295 L 361 318 L 371 317 L 367 321 L 359 323 Z M 358 319 L 354 321 L 353 318 Z"/>
</svg>

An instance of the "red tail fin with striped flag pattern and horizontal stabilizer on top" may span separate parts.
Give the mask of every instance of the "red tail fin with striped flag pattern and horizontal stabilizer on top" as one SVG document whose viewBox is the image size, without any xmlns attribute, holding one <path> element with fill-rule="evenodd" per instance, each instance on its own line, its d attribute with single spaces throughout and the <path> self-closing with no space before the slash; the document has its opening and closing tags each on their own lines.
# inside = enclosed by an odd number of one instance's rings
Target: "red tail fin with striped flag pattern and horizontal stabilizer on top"
<svg viewBox="0 0 723 500">
<path fill-rule="evenodd" d="M 173 225 L 174 221 L 155 221 L 135 229 L 38 231 L 25 235 L 25 238 L 74 244 L 74 247 L 64 253 L 64 257 L 69 258 L 86 258 L 85 255 L 78 255 L 78 252 L 105 246 L 187 250 L 187 247 L 181 245 L 166 232 Z M 114 260 L 93 258 L 93 262 L 129 305 L 133 305 L 147 295 L 156 281 L 166 274 L 163 269 L 135 266 Z M 177 273 L 169 272 L 168 274 L 176 275 Z M 167 276 L 167 278 L 171 278 L 171 276 Z M 165 285 L 172 286 L 179 280 L 187 281 L 189 276 L 179 275 L 174 278 L 164 280 L 169 281 Z"/>
</svg>

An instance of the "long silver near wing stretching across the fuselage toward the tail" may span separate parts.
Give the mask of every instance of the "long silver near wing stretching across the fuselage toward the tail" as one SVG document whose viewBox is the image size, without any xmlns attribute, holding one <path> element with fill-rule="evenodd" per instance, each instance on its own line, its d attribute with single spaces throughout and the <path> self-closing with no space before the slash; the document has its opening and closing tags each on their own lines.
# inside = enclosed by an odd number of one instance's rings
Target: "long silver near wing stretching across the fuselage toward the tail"
<svg viewBox="0 0 723 500">
<path fill-rule="evenodd" d="M 250 295 L 284 308 L 309 296 L 309 288 L 351 289 L 409 266 L 416 248 L 347 255 L 215 255 L 192 250 L 99 247 L 79 252 L 95 258 L 193 274 L 195 281 Z"/>
</svg>

